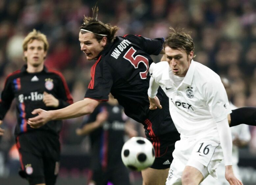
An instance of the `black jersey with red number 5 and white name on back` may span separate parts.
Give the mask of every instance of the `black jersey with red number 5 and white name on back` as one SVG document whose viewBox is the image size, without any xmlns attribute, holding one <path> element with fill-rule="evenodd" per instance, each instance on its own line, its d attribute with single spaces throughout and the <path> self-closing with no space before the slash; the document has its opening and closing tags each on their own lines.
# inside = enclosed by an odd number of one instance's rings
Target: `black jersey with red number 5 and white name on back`
<svg viewBox="0 0 256 185">
<path fill-rule="evenodd" d="M 99 54 L 92 66 L 91 81 L 85 97 L 107 101 L 109 93 L 112 93 L 124 107 L 125 114 L 141 123 L 149 114 L 157 116 L 160 110 L 149 110 L 148 71 L 153 62 L 150 55 L 158 55 L 163 49 L 163 42 L 163 38 L 117 36 L 114 42 Z M 158 97 L 160 101 L 163 97 L 166 98 L 161 88 Z M 165 101 L 168 101 L 168 98 Z"/>
</svg>

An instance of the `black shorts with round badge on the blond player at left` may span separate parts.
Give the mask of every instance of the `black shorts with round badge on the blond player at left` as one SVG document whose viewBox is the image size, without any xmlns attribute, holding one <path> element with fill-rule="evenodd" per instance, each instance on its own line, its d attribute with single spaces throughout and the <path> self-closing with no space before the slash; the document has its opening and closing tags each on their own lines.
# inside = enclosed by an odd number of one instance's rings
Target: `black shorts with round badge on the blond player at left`
<svg viewBox="0 0 256 185">
<path fill-rule="evenodd" d="M 59 172 L 60 142 L 55 134 L 35 130 L 16 137 L 21 171 L 30 185 L 54 185 Z"/>
</svg>

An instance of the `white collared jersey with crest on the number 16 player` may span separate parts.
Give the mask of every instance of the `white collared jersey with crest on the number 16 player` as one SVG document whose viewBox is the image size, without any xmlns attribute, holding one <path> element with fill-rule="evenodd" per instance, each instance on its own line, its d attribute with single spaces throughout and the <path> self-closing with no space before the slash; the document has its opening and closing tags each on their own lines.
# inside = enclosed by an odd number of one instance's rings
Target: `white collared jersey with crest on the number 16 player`
<svg viewBox="0 0 256 185">
<path fill-rule="evenodd" d="M 231 113 L 227 93 L 218 74 L 191 61 L 188 72 L 177 86 L 168 62 L 151 64 L 149 72 L 169 97 L 169 109 L 179 133 L 190 136 L 217 128 Z"/>
</svg>

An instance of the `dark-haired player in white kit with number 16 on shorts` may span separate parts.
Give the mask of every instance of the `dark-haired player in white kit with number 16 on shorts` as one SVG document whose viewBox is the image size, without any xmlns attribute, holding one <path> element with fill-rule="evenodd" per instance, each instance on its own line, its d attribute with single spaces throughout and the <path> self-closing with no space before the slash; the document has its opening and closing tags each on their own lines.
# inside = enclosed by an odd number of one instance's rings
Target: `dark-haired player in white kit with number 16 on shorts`
<svg viewBox="0 0 256 185">
<path fill-rule="evenodd" d="M 167 61 L 151 64 L 148 96 L 150 109 L 162 108 L 159 86 L 169 97 L 169 110 L 181 134 L 175 143 L 166 184 L 199 184 L 207 175 L 217 178 L 223 159 L 230 184 L 242 184 L 232 169 L 232 138 L 227 115 L 227 94 L 218 74 L 192 60 L 193 40 L 172 29 L 164 43 Z M 222 149 L 221 149 L 222 147 Z M 223 152 L 223 153 L 222 153 Z"/>
</svg>

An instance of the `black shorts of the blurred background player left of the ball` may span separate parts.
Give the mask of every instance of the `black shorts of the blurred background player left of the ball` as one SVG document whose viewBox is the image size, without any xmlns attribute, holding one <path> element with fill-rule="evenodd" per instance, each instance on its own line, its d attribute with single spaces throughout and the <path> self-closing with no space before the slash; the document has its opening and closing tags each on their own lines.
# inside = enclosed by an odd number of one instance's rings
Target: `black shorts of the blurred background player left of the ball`
<svg viewBox="0 0 256 185">
<path fill-rule="evenodd" d="M 93 184 L 94 182 L 96 185 L 107 185 L 108 181 L 115 185 L 130 185 L 129 170 L 122 161 L 115 164 L 115 166 L 108 167 L 106 170 L 90 170 L 88 184 Z"/>
</svg>

